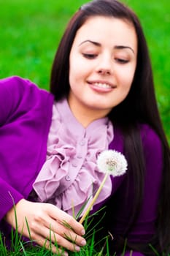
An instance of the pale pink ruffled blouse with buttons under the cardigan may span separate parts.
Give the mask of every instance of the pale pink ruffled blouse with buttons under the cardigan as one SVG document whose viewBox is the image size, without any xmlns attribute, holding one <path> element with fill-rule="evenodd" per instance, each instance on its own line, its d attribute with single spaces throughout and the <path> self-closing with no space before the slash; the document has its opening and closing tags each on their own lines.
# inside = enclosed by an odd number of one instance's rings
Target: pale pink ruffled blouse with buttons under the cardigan
<svg viewBox="0 0 170 256">
<path fill-rule="evenodd" d="M 33 184 L 37 200 L 53 203 L 71 215 L 74 206 L 77 214 L 104 178 L 104 173 L 98 171 L 96 159 L 112 139 L 113 127 L 108 118 L 100 118 L 84 128 L 66 99 L 55 102 L 47 159 Z M 109 197 L 111 191 L 112 181 L 108 178 L 96 204 Z"/>
</svg>

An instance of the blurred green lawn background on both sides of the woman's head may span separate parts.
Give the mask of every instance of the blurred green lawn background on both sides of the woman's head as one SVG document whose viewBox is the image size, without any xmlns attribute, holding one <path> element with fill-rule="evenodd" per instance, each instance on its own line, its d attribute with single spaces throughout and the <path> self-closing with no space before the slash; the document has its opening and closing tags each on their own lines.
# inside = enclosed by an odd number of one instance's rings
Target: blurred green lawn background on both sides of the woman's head
<svg viewBox="0 0 170 256">
<path fill-rule="evenodd" d="M 83 0 L 0 0 L 0 78 L 20 75 L 48 89 L 58 42 Z M 123 0 L 141 20 L 156 97 L 170 142 L 170 2 Z"/>
</svg>

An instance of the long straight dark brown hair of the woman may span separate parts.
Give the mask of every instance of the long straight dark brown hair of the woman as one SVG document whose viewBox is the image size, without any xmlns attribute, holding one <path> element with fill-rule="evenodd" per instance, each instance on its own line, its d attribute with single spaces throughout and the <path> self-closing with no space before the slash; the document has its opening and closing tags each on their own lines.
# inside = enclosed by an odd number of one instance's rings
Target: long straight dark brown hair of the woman
<svg viewBox="0 0 170 256">
<path fill-rule="evenodd" d="M 58 46 L 51 72 L 50 91 L 55 95 L 55 100 L 68 97 L 70 88 L 69 54 L 74 37 L 85 21 L 96 15 L 120 18 L 130 22 L 136 30 L 138 39 L 136 72 L 131 91 L 125 100 L 109 113 L 110 120 L 123 132 L 125 155 L 131 166 L 131 173 L 128 173 L 128 176 L 132 175 L 135 181 L 134 206 L 129 223 L 125 227 L 125 234 L 131 230 L 131 226 L 136 217 L 138 217 L 142 203 L 144 156 L 138 124 L 144 123 L 149 124 L 155 130 L 161 139 L 163 147 L 163 181 L 161 197 L 158 202 L 157 233 L 153 243 L 157 246 L 159 252 L 163 252 L 163 250 L 168 252 L 170 246 L 170 151 L 158 113 L 146 39 L 139 19 L 134 12 L 116 0 L 93 0 L 80 7 L 80 10 L 70 20 Z"/>
</svg>

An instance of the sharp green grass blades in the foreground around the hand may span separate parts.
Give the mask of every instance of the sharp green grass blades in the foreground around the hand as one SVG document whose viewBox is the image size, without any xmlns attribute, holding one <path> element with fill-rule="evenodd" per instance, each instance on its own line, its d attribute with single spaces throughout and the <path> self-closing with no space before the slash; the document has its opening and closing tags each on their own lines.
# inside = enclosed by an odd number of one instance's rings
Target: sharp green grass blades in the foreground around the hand
<svg viewBox="0 0 170 256">
<path fill-rule="evenodd" d="M 99 211 L 103 211 L 104 213 L 104 208 L 102 208 Z M 93 217 L 98 214 L 95 213 L 90 217 L 85 218 L 85 222 L 83 223 L 86 234 L 85 234 L 85 239 L 87 241 L 87 244 L 83 247 L 81 247 L 80 252 L 68 252 L 69 256 L 117 256 L 116 252 L 110 253 L 109 251 L 109 239 L 112 239 L 112 235 L 105 237 L 101 237 L 101 239 L 98 241 L 96 239 L 96 233 L 98 231 L 101 232 L 101 230 L 98 230 L 98 223 L 96 225 L 93 225 Z M 104 217 L 105 214 L 103 214 Z M 103 218 L 101 217 L 101 219 Z M 16 227 L 17 225 L 17 218 L 15 214 L 15 221 L 16 221 Z M 66 224 L 65 224 L 66 225 Z M 27 224 L 28 227 L 28 224 Z M 67 225 L 68 227 L 68 225 Z M 72 227 L 71 227 L 72 229 Z M 52 231 L 50 231 L 52 232 Z M 29 227 L 28 227 L 28 233 L 29 232 Z M 102 233 L 102 232 L 101 232 Z M 97 240 L 97 241 L 96 241 Z M 55 243 L 56 246 L 56 255 L 58 256 L 63 256 L 63 252 L 66 251 L 65 249 L 61 248 L 58 246 L 57 242 Z M 61 249 L 61 252 L 58 251 L 58 249 Z M 161 256 L 158 254 L 158 252 L 150 245 L 150 251 L 152 254 Z M 126 241 L 123 246 L 123 251 L 121 255 L 125 255 L 126 252 Z M 45 246 L 39 246 L 35 244 L 35 241 L 23 241 L 22 236 L 18 233 L 18 228 L 16 230 L 12 230 L 12 235 L 11 235 L 11 248 L 7 249 L 6 244 L 5 244 L 5 238 L 1 234 L 0 230 L 0 255 L 3 256 L 30 256 L 30 255 L 36 255 L 36 256 L 53 256 L 53 252 L 50 249 L 46 249 Z M 130 252 L 130 255 L 133 255 L 133 251 Z M 170 256 L 170 255 L 166 255 Z"/>
</svg>

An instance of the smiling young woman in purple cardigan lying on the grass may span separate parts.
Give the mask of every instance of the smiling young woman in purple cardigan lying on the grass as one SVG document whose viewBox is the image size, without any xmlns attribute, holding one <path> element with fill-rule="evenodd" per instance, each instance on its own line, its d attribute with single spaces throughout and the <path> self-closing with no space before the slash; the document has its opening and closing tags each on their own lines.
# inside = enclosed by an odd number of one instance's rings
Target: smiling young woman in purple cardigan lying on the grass
<svg viewBox="0 0 170 256">
<path fill-rule="evenodd" d="M 50 93 L 12 77 L 0 84 L 0 218 L 37 244 L 79 251 L 85 230 L 72 217 L 98 189 L 101 151 L 125 154 L 124 176 L 107 179 L 112 252 L 170 252 L 170 151 L 158 113 L 138 18 L 115 0 L 93 0 L 70 20 L 51 72 Z M 15 207 L 14 207 L 15 203 Z M 63 223 L 68 222 L 72 230 Z M 50 231 L 52 236 L 50 238 Z M 66 237 L 72 237 L 75 244 Z M 66 254 L 66 252 L 65 252 Z"/>
</svg>

